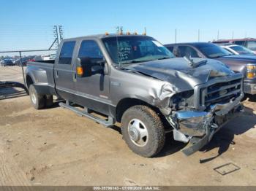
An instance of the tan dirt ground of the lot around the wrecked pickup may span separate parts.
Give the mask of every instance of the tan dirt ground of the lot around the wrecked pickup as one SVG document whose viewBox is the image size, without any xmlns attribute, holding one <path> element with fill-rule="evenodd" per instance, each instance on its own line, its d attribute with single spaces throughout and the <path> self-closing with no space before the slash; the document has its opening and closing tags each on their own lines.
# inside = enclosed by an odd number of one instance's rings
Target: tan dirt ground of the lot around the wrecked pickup
<svg viewBox="0 0 256 191">
<path fill-rule="evenodd" d="M 20 77 L 18 67 L 0 67 L 0 81 Z M 105 128 L 58 104 L 37 111 L 29 96 L 0 98 L 0 184 L 256 185 L 256 102 L 244 106 L 200 152 L 186 157 L 180 152 L 186 145 L 167 135 L 157 157 L 143 158 L 130 151 L 118 126 Z M 214 171 L 226 163 L 241 169 Z"/>
</svg>

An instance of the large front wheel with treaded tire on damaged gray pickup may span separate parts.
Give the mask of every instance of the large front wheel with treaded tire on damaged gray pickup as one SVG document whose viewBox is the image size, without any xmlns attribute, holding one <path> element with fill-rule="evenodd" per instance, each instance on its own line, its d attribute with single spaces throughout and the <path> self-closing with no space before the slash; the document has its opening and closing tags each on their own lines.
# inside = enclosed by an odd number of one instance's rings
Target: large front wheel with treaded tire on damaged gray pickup
<svg viewBox="0 0 256 191">
<path fill-rule="evenodd" d="M 128 147 L 143 157 L 157 155 L 165 145 L 165 128 L 148 106 L 132 106 L 121 118 L 121 132 Z"/>
</svg>

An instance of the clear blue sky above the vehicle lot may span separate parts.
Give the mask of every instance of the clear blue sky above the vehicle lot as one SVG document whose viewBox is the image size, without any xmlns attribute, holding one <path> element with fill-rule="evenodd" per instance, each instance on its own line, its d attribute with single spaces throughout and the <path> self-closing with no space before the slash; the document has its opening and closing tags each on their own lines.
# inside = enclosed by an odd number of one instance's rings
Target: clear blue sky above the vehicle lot
<svg viewBox="0 0 256 191">
<path fill-rule="evenodd" d="M 116 32 L 143 33 L 159 42 L 256 37 L 255 0 L 0 0 L 0 51 L 48 49 L 53 26 L 64 38 Z"/>
</svg>

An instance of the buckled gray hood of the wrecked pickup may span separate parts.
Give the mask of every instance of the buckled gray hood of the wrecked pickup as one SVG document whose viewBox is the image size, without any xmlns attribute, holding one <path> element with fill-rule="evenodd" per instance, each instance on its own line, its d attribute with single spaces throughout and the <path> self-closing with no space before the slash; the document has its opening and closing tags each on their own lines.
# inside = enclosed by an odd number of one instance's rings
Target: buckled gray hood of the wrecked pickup
<svg viewBox="0 0 256 191">
<path fill-rule="evenodd" d="M 193 58 L 195 63 L 203 60 L 205 59 Z M 224 63 L 211 59 L 206 59 L 206 61 L 193 68 L 184 58 L 170 58 L 136 63 L 127 66 L 126 69 L 170 82 L 182 90 L 191 90 L 196 85 L 203 84 L 214 77 L 234 74 Z"/>
</svg>

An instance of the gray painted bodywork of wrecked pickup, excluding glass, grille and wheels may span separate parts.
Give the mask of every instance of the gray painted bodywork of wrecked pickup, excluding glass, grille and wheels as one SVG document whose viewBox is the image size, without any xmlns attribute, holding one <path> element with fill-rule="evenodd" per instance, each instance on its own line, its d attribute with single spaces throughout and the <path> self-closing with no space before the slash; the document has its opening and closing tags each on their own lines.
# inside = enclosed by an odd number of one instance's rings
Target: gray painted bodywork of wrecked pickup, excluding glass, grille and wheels
<svg viewBox="0 0 256 191">
<path fill-rule="evenodd" d="M 64 42 L 76 41 L 71 66 L 58 64 L 61 50 L 59 49 L 54 65 L 51 63 L 30 62 L 26 74 L 31 76 L 36 85 L 55 87 L 56 93 L 60 95 L 66 92 L 65 99 L 71 101 L 75 101 L 75 98 L 72 97 L 73 95 L 78 95 L 89 100 L 116 106 L 124 98 L 138 98 L 160 109 L 166 109 L 168 107 L 172 95 L 186 90 L 193 90 L 197 85 L 206 83 L 211 71 L 225 73 L 225 75 L 230 77 L 234 74 L 224 64 L 211 59 L 208 59 L 206 64 L 195 68 L 189 66 L 189 63 L 184 58 L 171 58 L 161 61 L 132 64 L 124 70 L 118 69 L 108 55 L 107 50 L 105 50 L 105 46 L 101 40 L 102 38 L 108 38 L 108 36 L 99 35 L 65 39 L 61 42 L 60 47 Z M 106 60 L 108 75 L 85 77 L 82 80 L 84 85 L 82 85 L 81 83 L 76 84 L 71 77 L 67 77 L 67 74 L 64 74 L 63 81 L 60 80 L 61 82 L 59 82 L 56 79 L 57 69 L 70 74 L 75 72 L 74 59 L 78 55 L 80 43 L 83 40 L 94 40 L 97 42 Z M 195 61 L 201 60 L 195 59 Z M 140 72 L 140 74 L 136 74 L 135 72 Z M 103 80 L 98 80 L 100 78 Z M 101 82 L 103 84 L 100 89 L 98 87 Z M 95 88 L 93 85 L 95 85 Z"/>
</svg>

